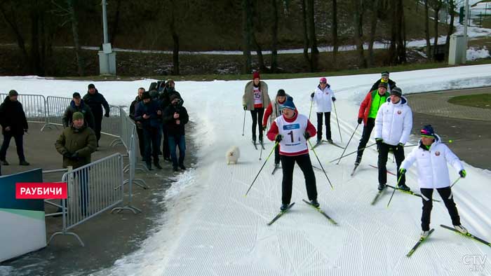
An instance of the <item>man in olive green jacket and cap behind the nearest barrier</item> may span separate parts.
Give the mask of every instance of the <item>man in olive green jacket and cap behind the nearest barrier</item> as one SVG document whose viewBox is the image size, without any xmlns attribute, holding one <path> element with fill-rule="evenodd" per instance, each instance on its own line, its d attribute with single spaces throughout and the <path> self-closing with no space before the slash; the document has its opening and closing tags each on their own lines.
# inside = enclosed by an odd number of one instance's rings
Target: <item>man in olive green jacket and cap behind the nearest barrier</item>
<svg viewBox="0 0 491 276">
<path fill-rule="evenodd" d="M 90 163 L 90 155 L 95 151 L 97 138 L 90 127 L 83 122 L 83 113 L 75 112 L 73 123 L 63 130 L 56 140 L 58 153 L 63 156 L 63 167 L 72 166 L 74 169 Z M 88 203 L 88 170 L 83 169 L 76 174 L 80 184 L 81 214 L 87 215 Z M 59 209 L 59 212 L 61 210 Z"/>
</svg>

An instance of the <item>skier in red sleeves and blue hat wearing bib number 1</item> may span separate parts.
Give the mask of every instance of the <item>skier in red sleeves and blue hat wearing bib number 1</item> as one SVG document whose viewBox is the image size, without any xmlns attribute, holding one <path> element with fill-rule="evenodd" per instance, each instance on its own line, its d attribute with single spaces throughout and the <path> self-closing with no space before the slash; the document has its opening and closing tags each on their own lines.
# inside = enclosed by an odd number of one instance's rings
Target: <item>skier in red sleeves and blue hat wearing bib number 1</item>
<svg viewBox="0 0 491 276">
<path fill-rule="evenodd" d="M 316 128 L 302 114 L 297 113 L 293 100 L 288 98 L 282 105 L 283 115 L 276 118 L 269 128 L 267 137 L 280 146 L 281 167 L 283 169 L 281 211 L 290 205 L 292 198 L 293 167 L 295 162 L 304 173 L 305 186 L 311 205 L 319 207 L 317 201 L 316 176 L 312 169 L 307 139 L 316 135 Z"/>
</svg>

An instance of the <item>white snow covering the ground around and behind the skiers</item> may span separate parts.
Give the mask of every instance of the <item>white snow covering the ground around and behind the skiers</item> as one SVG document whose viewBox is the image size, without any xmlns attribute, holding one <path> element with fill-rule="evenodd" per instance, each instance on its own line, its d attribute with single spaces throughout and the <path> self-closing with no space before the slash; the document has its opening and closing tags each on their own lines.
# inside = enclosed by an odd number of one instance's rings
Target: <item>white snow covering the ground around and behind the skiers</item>
<svg viewBox="0 0 491 276">
<path fill-rule="evenodd" d="M 391 78 L 403 92 L 425 92 L 491 85 L 491 65 L 452 67 L 397 72 Z M 342 141 L 332 118 L 332 137 L 345 145 L 356 127 L 358 105 L 379 74 L 329 77 L 337 92 L 337 115 Z M 111 104 L 128 104 L 137 88 L 152 80 L 96 82 L 95 86 Z M 0 77 L 0 91 L 69 97 L 86 90 L 88 81 L 58 81 L 37 77 Z M 269 95 L 283 88 L 295 99 L 301 113 L 309 113 L 309 94 L 318 78 L 268 80 Z M 435 232 L 411 258 L 405 256 L 419 238 L 421 201 L 396 193 L 386 208 L 389 192 L 371 206 L 377 191 L 377 153 L 365 151 L 363 163 L 350 177 L 354 157 L 339 165 L 328 163 L 342 149 L 318 146 L 318 154 L 335 189 L 331 190 L 322 172 L 316 172 L 321 207 L 339 223 L 330 224 L 321 214 L 302 202 L 304 181 L 295 168 L 291 211 L 267 226 L 281 203 L 281 170 L 271 175 L 269 160 L 247 198 L 244 193 L 271 151 L 266 144 L 262 160 L 250 143 L 250 115 L 245 115 L 245 136 L 241 135 L 244 113 L 241 97 L 245 81 L 184 81 L 177 83 L 196 130 L 187 135 L 199 144 L 199 163 L 176 177 L 166 194 L 168 212 L 162 226 L 142 248 L 120 260 L 114 267 L 95 275 L 491 275 L 491 263 L 472 270 L 472 260 L 487 258 L 489 247 L 440 228 L 451 224 L 443 204 L 433 206 Z M 411 103 L 409 102 L 409 105 Z M 333 116 L 334 117 L 334 116 Z M 314 119 L 315 124 L 315 119 Z M 413 127 L 421 127 L 414 125 Z M 438 132 L 438 125 L 434 125 Z M 489 131 L 489 130 L 483 130 Z M 361 127 L 347 152 L 355 151 Z M 417 142 L 412 137 L 410 144 Z M 229 146 L 241 149 L 238 165 L 225 164 Z M 406 152 L 412 148 L 406 149 Z M 314 165 L 318 162 L 311 152 Z M 468 175 L 454 188 L 462 223 L 472 233 L 491 240 L 491 172 L 465 165 Z M 388 164 L 395 171 L 395 164 Z M 415 168 L 407 184 L 417 189 Z M 450 168 L 451 179 L 457 173 Z M 389 175 L 389 184 L 395 177 Z M 435 195 L 439 199 L 439 195 Z M 0 267 L 1 268 L 1 267 Z M 8 268 L 2 268 L 7 270 Z M 0 270 L 1 271 L 1 270 Z"/>
</svg>

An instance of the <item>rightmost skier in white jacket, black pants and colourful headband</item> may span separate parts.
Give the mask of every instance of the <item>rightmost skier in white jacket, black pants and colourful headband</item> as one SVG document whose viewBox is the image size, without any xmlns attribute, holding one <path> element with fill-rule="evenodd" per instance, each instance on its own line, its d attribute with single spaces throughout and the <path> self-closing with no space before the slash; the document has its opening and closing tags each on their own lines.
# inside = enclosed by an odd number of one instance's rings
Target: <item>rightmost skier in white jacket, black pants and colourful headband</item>
<svg viewBox="0 0 491 276">
<path fill-rule="evenodd" d="M 429 235 L 429 224 L 433 201 L 433 189 L 440 194 L 448 213 L 452 218 L 452 224 L 456 230 L 466 234 L 467 230 L 460 224 L 459 212 L 455 207 L 452 190 L 450 189 L 450 177 L 448 176 L 447 163 L 459 173 L 460 177 L 466 177 L 466 170 L 459 158 L 441 142 L 440 137 L 433 131 L 431 125 L 425 125 L 421 130 L 419 146 L 409 153 L 401 164 L 401 174 L 405 174 L 413 163 L 417 163 L 418 184 L 423 201 L 423 213 L 421 216 L 422 237 Z"/>
</svg>

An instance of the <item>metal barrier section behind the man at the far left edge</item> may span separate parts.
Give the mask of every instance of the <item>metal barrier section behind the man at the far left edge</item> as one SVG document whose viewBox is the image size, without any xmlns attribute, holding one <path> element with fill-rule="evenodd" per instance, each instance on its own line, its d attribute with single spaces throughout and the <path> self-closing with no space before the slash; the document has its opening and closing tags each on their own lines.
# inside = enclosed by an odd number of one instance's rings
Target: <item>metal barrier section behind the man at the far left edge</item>
<svg viewBox="0 0 491 276">
<path fill-rule="evenodd" d="M 0 103 L 8 97 L 8 94 L 0 94 Z M 46 98 L 43 95 L 20 94 L 17 100 L 22 104 L 27 122 L 29 123 L 46 123 Z"/>
</svg>

